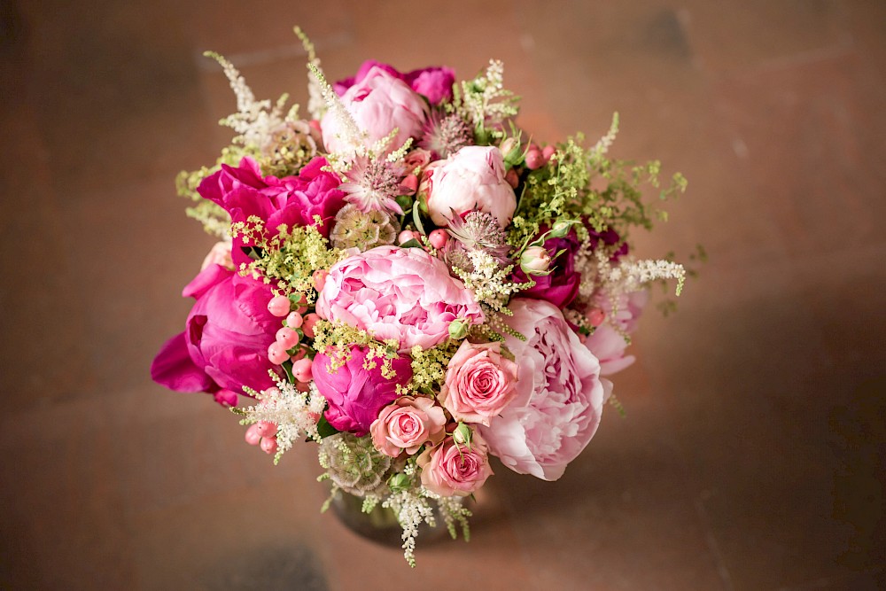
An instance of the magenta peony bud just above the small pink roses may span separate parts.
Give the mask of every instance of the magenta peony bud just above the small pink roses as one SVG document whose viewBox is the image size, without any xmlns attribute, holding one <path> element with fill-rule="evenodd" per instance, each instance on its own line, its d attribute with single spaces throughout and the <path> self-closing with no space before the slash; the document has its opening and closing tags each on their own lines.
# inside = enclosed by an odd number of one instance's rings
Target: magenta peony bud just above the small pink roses
<svg viewBox="0 0 886 591">
<path fill-rule="evenodd" d="M 375 367 L 366 369 L 367 351 L 354 346 L 350 358 L 338 369 L 332 369 L 332 359 L 317 354 L 311 367 L 317 391 L 326 398 L 326 420 L 338 431 L 352 432 L 358 437 L 369 432 L 369 426 L 378 412 L 396 399 L 397 385 L 405 385 L 412 377 L 412 365 L 408 357 L 391 360 L 394 376 L 382 375 L 381 359 L 375 359 Z"/>
</svg>

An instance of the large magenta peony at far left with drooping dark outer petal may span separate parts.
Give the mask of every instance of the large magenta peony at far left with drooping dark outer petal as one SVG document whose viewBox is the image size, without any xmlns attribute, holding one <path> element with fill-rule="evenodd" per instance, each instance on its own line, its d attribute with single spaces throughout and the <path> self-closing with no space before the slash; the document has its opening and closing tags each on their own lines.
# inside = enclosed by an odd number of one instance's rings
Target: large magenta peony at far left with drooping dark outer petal
<svg viewBox="0 0 886 591">
<path fill-rule="evenodd" d="M 274 385 L 268 346 L 280 319 L 268 312 L 268 285 L 221 265 L 202 270 L 183 291 L 197 299 L 187 329 L 170 338 L 151 365 L 154 381 L 178 392 L 242 393 Z"/>
</svg>

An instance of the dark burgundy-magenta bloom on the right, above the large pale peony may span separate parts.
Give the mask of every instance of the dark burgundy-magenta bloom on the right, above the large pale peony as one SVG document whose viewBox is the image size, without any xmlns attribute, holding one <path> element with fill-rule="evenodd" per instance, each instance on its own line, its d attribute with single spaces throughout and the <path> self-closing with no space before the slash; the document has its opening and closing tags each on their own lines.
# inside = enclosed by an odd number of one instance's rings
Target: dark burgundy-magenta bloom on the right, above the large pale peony
<svg viewBox="0 0 886 591">
<path fill-rule="evenodd" d="M 550 267 L 554 268 L 554 272 L 549 275 L 532 276 L 535 285 L 520 292 L 520 295 L 526 298 L 547 299 L 562 309 L 569 306 L 579 295 L 581 274 L 575 270 L 575 253 L 579 250 L 579 237 L 574 229 L 562 238 L 548 236 L 544 249 L 551 257 Z M 554 259 L 556 253 L 560 251 L 563 251 L 563 254 Z M 529 281 L 522 268 L 514 269 L 513 277 L 514 282 L 518 284 Z"/>
</svg>

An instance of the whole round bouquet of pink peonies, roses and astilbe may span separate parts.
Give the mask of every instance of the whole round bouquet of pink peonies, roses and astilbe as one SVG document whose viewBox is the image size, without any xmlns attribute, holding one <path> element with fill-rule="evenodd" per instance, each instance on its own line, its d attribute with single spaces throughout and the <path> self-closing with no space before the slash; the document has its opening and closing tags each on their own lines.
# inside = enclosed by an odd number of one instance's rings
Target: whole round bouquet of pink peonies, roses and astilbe
<svg viewBox="0 0 886 591">
<path fill-rule="evenodd" d="M 183 173 L 188 214 L 219 237 L 183 291 L 185 330 L 152 364 L 159 384 L 205 392 L 274 455 L 313 441 L 332 494 L 392 509 L 415 564 L 436 512 L 468 537 L 462 501 L 509 470 L 556 480 L 587 446 L 608 377 L 633 362 L 649 284 L 685 271 L 633 256 L 631 229 L 668 198 L 659 164 L 596 144 L 540 144 L 491 61 L 401 73 L 374 61 L 328 83 L 307 36 L 309 117 L 256 100 L 222 66 L 236 136 Z M 238 406 L 240 397 L 245 405 Z"/>
</svg>

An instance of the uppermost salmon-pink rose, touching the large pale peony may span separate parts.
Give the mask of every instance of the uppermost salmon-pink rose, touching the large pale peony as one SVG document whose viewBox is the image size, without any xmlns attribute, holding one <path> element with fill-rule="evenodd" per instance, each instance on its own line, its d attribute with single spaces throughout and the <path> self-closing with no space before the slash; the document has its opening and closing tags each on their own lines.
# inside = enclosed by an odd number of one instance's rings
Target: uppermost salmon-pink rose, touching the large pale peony
<svg viewBox="0 0 886 591">
<path fill-rule="evenodd" d="M 517 395 L 517 363 L 501 355 L 501 343 L 462 341 L 447 367 L 439 400 L 458 421 L 482 423 Z"/>
</svg>

